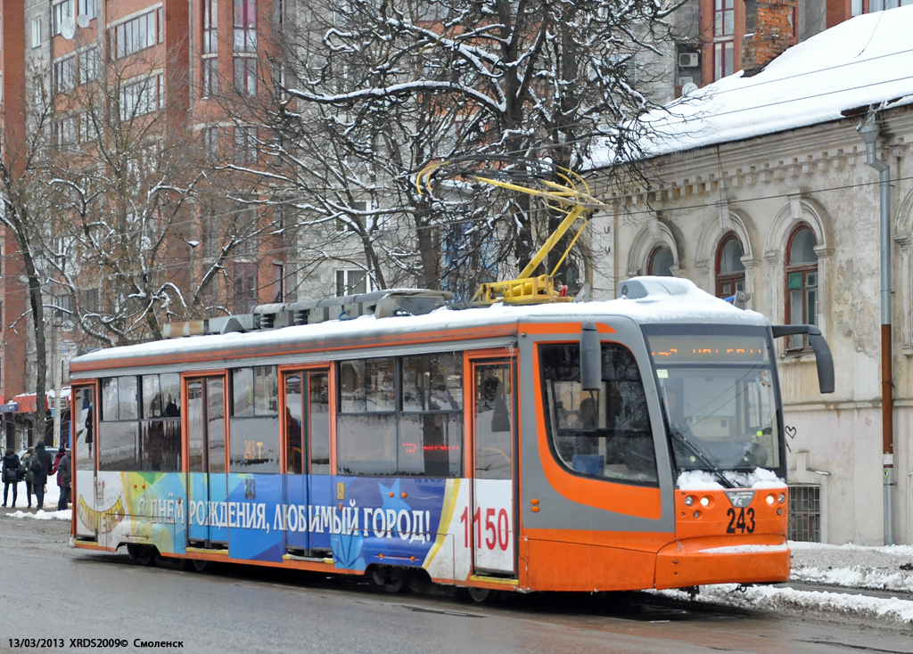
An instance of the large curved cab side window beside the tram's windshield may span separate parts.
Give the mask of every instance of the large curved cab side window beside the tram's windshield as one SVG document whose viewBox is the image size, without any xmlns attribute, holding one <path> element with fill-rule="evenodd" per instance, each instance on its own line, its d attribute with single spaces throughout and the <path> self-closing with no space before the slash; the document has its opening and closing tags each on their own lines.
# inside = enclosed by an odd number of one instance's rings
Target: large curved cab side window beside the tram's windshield
<svg viewBox="0 0 913 654">
<path fill-rule="evenodd" d="M 584 391 L 577 344 L 540 347 L 545 422 L 556 458 L 585 476 L 657 483 L 644 383 L 634 355 L 603 343 L 602 389 Z"/>
</svg>

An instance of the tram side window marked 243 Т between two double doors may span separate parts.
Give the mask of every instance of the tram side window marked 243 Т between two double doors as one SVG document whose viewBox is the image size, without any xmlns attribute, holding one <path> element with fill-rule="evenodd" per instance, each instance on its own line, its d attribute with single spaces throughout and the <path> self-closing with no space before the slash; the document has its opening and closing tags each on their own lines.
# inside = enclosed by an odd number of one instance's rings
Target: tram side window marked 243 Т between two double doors
<svg viewBox="0 0 913 654">
<path fill-rule="evenodd" d="M 232 370 L 231 472 L 279 472 L 278 369 Z"/>
</svg>

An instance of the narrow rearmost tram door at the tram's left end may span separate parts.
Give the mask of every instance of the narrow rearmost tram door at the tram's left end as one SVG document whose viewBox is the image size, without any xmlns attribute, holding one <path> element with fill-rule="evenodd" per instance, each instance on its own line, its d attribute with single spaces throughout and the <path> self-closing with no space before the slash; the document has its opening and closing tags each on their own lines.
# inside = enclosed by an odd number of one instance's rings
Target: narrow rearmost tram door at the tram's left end
<svg viewBox="0 0 913 654">
<path fill-rule="evenodd" d="M 83 503 L 98 510 L 95 506 L 95 454 L 98 445 L 96 427 L 98 425 L 98 403 L 95 401 L 94 386 L 80 386 L 73 389 L 72 401 L 72 430 L 73 462 L 76 463 L 75 487 L 72 502 L 79 507 Z M 77 515 L 83 514 L 78 511 Z M 92 528 L 89 528 L 91 526 Z M 95 525 L 83 524 L 82 520 L 74 520 L 73 533 L 77 536 L 95 538 L 98 534 L 94 531 Z"/>
</svg>

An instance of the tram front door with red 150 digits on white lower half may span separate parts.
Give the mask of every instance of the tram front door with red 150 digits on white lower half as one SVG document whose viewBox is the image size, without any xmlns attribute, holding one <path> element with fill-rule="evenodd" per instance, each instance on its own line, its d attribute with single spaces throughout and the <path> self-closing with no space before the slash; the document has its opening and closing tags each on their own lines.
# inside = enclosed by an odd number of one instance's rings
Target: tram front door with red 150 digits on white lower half
<svg viewBox="0 0 913 654">
<path fill-rule="evenodd" d="M 472 380 L 473 566 L 481 574 L 512 574 L 516 558 L 514 361 L 474 361 Z"/>
</svg>

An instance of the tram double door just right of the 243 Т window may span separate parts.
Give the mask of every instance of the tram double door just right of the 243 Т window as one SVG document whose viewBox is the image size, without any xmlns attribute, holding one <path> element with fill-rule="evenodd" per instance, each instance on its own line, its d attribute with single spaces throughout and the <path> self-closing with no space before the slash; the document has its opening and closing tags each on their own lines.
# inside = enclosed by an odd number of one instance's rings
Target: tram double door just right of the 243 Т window
<svg viewBox="0 0 913 654">
<path fill-rule="evenodd" d="M 285 393 L 286 551 L 310 555 L 329 547 L 308 532 L 310 506 L 330 502 L 330 373 L 327 369 L 283 374 Z"/>
</svg>

